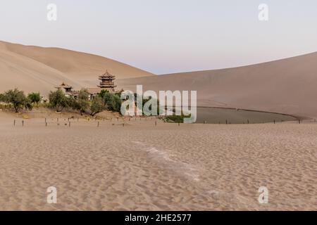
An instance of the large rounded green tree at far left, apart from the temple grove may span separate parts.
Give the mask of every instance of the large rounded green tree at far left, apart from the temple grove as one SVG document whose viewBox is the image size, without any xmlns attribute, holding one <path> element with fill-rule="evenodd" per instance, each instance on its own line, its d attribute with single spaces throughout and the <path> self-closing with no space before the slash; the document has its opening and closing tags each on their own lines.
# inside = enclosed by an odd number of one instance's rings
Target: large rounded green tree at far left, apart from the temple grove
<svg viewBox="0 0 317 225">
<path fill-rule="evenodd" d="M 27 97 L 24 92 L 19 91 L 18 89 L 6 91 L 2 98 L 4 98 L 4 102 L 13 105 L 15 113 L 18 113 L 18 111 L 23 108 L 32 109 L 32 107 L 28 104 L 29 102 L 27 101 Z"/>
</svg>

